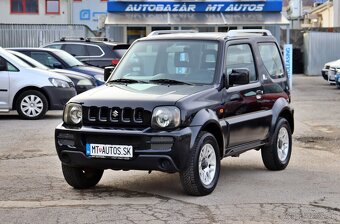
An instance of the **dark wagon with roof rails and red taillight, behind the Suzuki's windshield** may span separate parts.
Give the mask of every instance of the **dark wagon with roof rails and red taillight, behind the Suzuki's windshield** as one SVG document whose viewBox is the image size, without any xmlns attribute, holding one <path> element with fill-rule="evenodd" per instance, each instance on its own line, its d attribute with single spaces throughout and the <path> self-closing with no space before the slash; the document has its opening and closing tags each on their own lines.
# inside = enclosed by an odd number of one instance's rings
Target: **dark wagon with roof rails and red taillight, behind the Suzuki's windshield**
<svg viewBox="0 0 340 224">
<path fill-rule="evenodd" d="M 67 51 L 85 64 L 105 68 L 115 66 L 129 46 L 129 44 L 108 41 L 106 38 L 63 37 L 43 47 Z"/>
</svg>

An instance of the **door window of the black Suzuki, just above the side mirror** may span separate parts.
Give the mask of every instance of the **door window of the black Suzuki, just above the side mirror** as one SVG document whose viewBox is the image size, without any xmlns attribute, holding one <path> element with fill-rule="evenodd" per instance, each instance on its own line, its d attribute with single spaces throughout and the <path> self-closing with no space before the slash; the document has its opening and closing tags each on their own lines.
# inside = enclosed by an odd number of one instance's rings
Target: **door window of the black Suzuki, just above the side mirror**
<svg viewBox="0 0 340 224">
<path fill-rule="evenodd" d="M 249 81 L 257 80 L 254 57 L 248 44 L 230 45 L 227 48 L 225 74 L 229 75 L 233 69 L 247 69 Z"/>
</svg>

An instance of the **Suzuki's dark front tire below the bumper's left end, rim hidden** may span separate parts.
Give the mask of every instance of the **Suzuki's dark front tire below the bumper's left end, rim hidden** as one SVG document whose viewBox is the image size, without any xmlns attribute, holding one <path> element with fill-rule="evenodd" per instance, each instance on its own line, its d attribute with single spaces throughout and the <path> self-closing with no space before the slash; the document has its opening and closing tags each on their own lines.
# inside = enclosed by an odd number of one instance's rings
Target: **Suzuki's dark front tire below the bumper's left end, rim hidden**
<svg viewBox="0 0 340 224">
<path fill-rule="evenodd" d="M 104 170 L 71 167 L 62 164 L 62 170 L 66 182 L 76 189 L 94 187 L 103 176 Z"/>
</svg>

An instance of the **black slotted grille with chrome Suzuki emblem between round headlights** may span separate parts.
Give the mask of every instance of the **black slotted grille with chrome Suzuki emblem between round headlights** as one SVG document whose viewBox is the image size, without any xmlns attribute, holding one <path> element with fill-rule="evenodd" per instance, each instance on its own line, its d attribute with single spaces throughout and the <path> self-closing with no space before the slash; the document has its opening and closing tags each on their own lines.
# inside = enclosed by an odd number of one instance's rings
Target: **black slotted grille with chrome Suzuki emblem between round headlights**
<svg viewBox="0 0 340 224">
<path fill-rule="evenodd" d="M 117 127 L 150 126 L 151 112 L 130 107 L 83 107 L 83 123 Z"/>
</svg>

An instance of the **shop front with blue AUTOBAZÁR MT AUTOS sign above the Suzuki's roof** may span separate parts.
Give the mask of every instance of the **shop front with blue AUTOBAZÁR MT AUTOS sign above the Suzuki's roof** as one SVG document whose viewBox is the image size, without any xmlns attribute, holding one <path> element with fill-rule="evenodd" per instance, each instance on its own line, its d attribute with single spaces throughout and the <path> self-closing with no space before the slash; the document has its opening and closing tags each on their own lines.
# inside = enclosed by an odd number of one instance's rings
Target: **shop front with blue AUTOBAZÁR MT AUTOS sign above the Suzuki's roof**
<svg viewBox="0 0 340 224">
<path fill-rule="evenodd" d="M 231 29 L 269 29 L 280 38 L 282 0 L 109 0 L 107 36 L 131 43 L 154 30 L 195 29 L 225 32 Z"/>
</svg>

